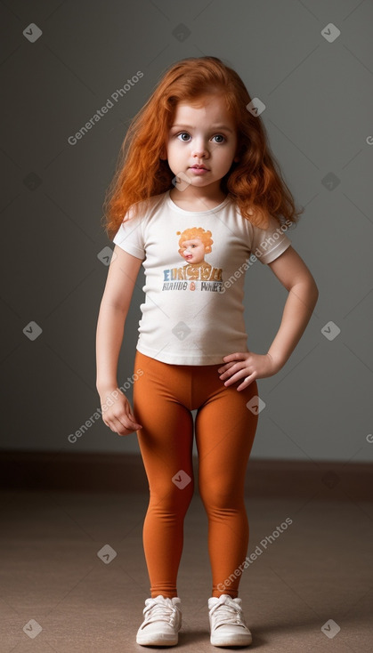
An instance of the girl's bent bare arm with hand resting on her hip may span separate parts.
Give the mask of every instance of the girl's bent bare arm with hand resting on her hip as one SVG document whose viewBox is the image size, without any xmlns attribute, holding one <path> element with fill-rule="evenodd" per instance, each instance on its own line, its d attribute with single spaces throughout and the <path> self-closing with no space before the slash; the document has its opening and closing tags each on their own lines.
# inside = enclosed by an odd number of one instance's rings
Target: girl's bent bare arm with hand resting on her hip
<svg viewBox="0 0 373 653">
<path fill-rule="evenodd" d="M 315 280 L 293 246 L 289 246 L 268 266 L 288 290 L 288 299 L 279 331 L 266 354 L 246 351 L 224 356 L 224 365 L 218 370 L 220 378 L 224 385 L 244 379 L 237 390 L 244 390 L 255 379 L 272 376 L 280 371 L 296 349 L 318 300 L 319 291 Z"/>
</svg>

